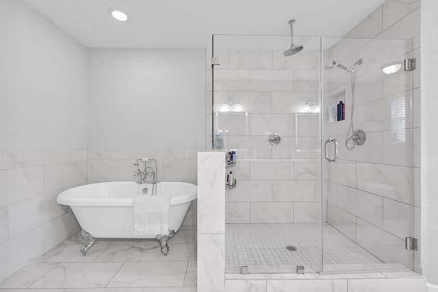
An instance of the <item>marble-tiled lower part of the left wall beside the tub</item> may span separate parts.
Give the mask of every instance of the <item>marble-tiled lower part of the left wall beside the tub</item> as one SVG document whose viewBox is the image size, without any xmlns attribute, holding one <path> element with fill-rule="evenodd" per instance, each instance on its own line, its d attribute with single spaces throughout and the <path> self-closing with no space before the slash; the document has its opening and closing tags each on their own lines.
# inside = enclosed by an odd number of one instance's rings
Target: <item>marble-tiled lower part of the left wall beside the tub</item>
<svg viewBox="0 0 438 292">
<path fill-rule="evenodd" d="M 87 150 L 0 152 L 0 279 L 79 231 L 64 189 L 87 183 Z"/>
</svg>

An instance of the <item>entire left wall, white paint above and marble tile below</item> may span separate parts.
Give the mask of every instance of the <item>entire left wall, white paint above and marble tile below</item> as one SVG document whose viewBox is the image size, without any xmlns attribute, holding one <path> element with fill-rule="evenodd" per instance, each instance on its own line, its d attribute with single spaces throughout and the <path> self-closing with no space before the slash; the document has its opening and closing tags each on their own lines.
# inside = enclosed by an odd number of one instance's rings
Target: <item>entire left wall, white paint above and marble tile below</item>
<svg viewBox="0 0 438 292">
<path fill-rule="evenodd" d="M 0 1 L 0 280 L 79 230 L 56 196 L 87 181 L 86 53 L 23 0 Z"/>
</svg>

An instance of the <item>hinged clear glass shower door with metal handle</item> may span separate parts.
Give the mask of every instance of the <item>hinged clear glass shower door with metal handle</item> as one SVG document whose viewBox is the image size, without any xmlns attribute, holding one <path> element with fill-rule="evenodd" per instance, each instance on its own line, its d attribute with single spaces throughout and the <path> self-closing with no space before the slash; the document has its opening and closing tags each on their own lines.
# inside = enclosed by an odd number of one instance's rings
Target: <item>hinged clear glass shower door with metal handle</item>
<svg viewBox="0 0 438 292">
<path fill-rule="evenodd" d="M 414 269 L 411 41 L 322 50 L 323 270 Z"/>
</svg>

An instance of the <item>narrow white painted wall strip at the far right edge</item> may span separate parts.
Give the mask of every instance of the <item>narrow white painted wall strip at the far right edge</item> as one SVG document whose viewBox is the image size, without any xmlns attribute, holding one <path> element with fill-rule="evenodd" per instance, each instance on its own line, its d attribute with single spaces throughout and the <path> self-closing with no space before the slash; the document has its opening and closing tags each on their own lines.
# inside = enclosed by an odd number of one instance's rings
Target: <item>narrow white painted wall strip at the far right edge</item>
<svg viewBox="0 0 438 292">
<path fill-rule="evenodd" d="M 437 11 L 438 1 L 422 0 L 422 268 L 433 284 L 438 284 Z"/>
</svg>

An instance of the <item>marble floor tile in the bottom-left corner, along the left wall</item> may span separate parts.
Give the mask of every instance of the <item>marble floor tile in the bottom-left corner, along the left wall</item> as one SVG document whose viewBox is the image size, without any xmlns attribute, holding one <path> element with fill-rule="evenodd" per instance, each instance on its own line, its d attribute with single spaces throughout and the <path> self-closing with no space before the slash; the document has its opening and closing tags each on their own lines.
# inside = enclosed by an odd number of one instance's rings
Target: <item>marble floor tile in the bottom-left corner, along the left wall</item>
<svg viewBox="0 0 438 292">
<path fill-rule="evenodd" d="M 27 288 L 59 263 L 29 263 L 0 282 L 0 288 Z"/>
</svg>

